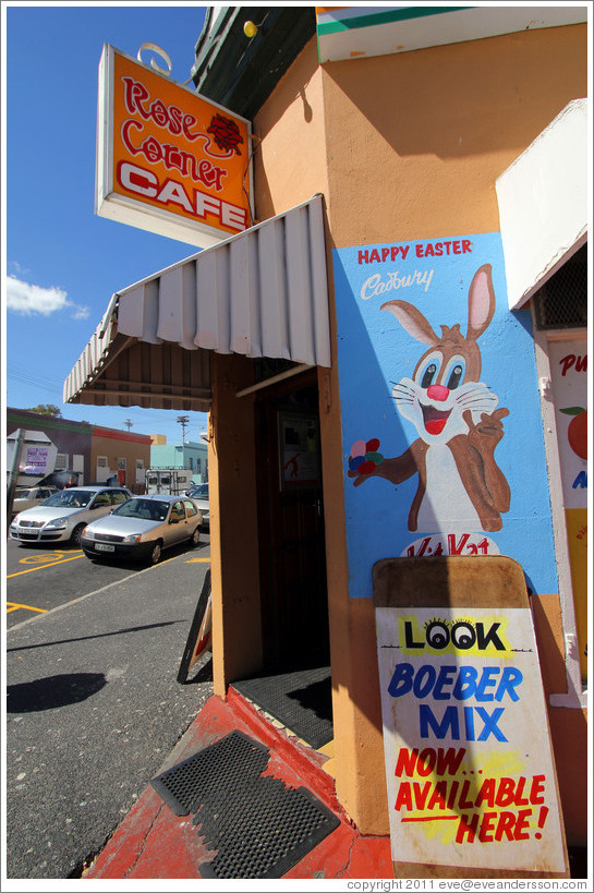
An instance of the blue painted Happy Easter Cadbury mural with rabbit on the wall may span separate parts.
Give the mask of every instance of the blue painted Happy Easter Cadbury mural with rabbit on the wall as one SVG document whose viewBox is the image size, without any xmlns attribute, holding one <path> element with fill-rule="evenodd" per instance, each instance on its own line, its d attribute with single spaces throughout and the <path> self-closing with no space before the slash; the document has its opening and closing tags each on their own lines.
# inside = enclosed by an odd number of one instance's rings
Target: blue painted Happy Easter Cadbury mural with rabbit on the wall
<svg viewBox="0 0 594 893">
<path fill-rule="evenodd" d="M 557 592 L 532 322 L 508 307 L 500 234 L 340 249 L 334 269 L 351 596 L 376 560 L 436 554 L 509 555 Z"/>
</svg>

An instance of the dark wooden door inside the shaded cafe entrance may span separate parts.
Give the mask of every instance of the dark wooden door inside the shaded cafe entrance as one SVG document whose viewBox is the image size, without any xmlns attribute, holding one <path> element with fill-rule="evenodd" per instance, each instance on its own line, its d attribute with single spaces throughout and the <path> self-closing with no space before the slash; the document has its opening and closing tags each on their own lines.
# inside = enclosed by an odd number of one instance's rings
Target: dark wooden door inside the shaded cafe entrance
<svg viewBox="0 0 594 893">
<path fill-rule="evenodd" d="M 317 386 L 267 389 L 256 412 L 266 664 L 323 665 L 329 643 Z"/>
</svg>

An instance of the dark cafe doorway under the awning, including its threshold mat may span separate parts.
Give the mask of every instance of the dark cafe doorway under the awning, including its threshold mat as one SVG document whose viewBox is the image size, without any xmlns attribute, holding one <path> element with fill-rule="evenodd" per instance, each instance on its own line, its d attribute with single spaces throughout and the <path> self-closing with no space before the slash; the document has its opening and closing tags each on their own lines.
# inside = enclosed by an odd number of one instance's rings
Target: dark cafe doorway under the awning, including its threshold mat
<svg viewBox="0 0 594 893">
<path fill-rule="evenodd" d="M 334 738 L 316 370 L 254 402 L 262 669 L 233 683 L 314 749 Z"/>
</svg>

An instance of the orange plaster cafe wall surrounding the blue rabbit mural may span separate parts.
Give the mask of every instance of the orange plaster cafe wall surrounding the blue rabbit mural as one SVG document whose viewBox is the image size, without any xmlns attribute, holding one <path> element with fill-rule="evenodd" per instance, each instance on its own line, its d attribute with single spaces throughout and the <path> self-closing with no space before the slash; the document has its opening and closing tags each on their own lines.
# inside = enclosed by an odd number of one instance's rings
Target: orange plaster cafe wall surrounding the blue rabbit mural
<svg viewBox="0 0 594 893">
<path fill-rule="evenodd" d="M 497 177 L 568 101 L 587 95 L 586 59 L 585 25 L 324 69 L 313 40 L 254 122 L 256 215 L 323 192 L 329 248 L 496 231 Z M 336 333 L 331 267 L 329 278 Z M 374 610 L 348 596 L 336 363 L 319 371 L 319 385 L 337 793 L 364 833 L 387 834 Z M 536 619 L 547 693 L 565 691 L 556 593 L 541 596 Z M 585 719 L 571 709 L 549 715 L 568 843 L 581 845 Z"/>
</svg>

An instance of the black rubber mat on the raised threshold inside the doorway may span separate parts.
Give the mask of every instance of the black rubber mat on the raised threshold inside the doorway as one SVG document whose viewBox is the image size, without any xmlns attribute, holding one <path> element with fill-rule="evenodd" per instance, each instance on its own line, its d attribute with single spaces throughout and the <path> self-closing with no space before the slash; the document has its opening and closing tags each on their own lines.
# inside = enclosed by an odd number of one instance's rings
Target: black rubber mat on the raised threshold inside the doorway
<svg viewBox="0 0 594 893">
<path fill-rule="evenodd" d="M 233 688 L 316 750 L 332 740 L 329 666 L 242 679 Z"/>
</svg>

